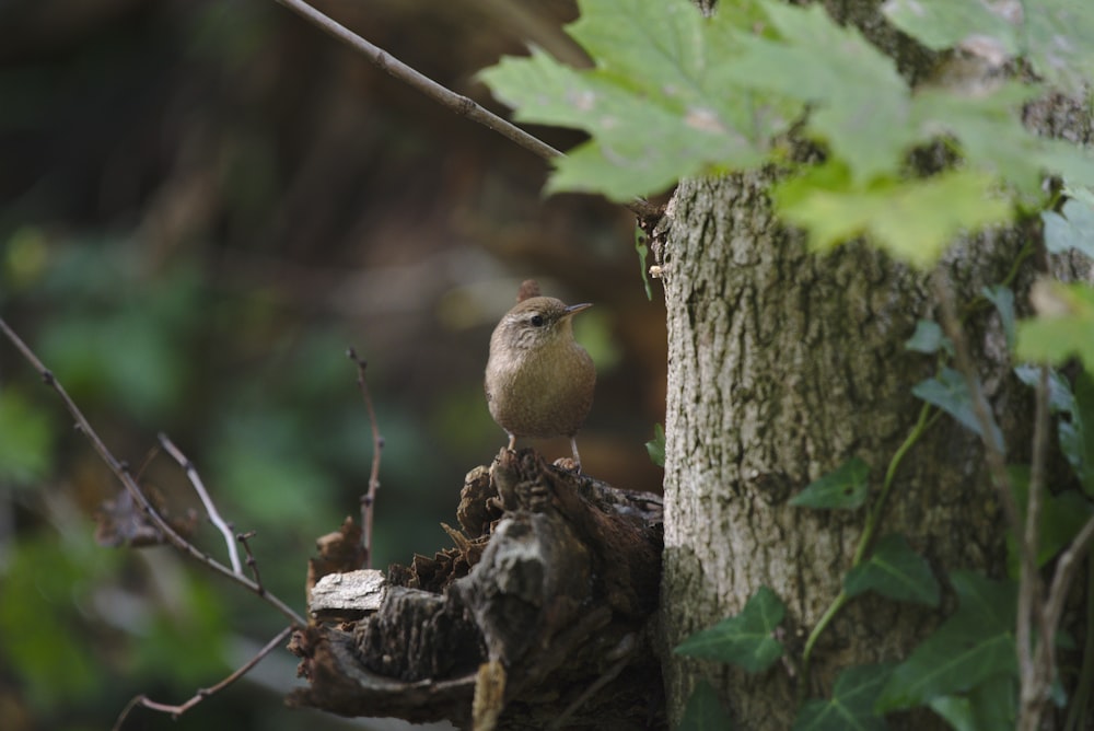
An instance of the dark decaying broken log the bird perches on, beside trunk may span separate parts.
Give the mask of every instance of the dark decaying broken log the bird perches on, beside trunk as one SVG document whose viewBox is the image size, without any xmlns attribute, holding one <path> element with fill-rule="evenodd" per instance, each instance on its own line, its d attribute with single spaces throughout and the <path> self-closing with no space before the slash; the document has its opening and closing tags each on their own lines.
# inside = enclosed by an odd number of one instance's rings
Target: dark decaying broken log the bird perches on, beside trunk
<svg viewBox="0 0 1094 731">
<path fill-rule="evenodd" d="M 502 450 L 467 475 L 462 530 L 444 526 L 455 546 L 386 581 L 313 562 L 315 619 L 291 646 L 310 684 L 289 703 L 476 729 L 663 728 L 661 499 L 567 462 Z"/>
</svg>

